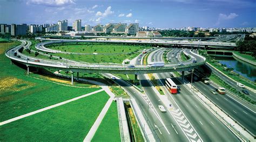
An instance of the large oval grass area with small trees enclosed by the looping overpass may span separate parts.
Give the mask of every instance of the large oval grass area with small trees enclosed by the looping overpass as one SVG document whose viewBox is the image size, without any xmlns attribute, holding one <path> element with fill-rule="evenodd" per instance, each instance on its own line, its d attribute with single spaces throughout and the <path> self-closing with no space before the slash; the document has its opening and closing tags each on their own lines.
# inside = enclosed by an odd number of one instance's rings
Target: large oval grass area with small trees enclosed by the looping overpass
<svg viewBox="0 0 256 142">
<path fill-rule="evenodd" d="M 108 44 L 91 44 L 78 43 L 68 45 L 48 45 L 48 48 L 62 50 L 66 52 L 91 53 L 90 55 L 75 55 L 54 53 L 52 55 L 62 58 L 68 58 L 77 61 L 89 63 L 122 63 L 124 59 L 132 59 L 139 55 L 139 51 L 149 49 L 150 46 L 134 45 L 108 45 Z M 99 53 L 92 55 L 92 53 Z M 104 54 L 104 55 L 103 55 Z"/>
</svg>

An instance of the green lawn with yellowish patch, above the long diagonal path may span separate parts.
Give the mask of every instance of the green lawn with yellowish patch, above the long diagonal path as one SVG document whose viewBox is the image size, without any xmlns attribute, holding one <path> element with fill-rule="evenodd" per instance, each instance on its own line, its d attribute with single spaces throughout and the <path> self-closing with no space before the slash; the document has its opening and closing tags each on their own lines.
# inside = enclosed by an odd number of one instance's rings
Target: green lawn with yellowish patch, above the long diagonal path
<svg viewBox="0 0 256 142">
<path fill-rule="evenodd" d="M 0 121 L 57 104 L 100 88 L 77 88 L 26 76 L 26 70 L 11 65 L 4 49 L 17 44 L 0 44 Z M 3 52 L 2 52 L 3 51 Z"/>
</svg>

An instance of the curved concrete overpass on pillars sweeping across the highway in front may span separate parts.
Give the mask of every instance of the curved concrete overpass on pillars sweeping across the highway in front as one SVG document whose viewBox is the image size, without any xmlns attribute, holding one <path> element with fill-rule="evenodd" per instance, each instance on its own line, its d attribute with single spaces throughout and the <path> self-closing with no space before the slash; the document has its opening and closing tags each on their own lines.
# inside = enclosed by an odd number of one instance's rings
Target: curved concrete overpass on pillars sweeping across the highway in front
<svg viewBox="0 0 256 142">
<path fill-rule="evenodd" d="M 193 60 L 188 60 L 187 62 L 183 62 L 183 65 L 179 64 L 165 64 L 161 67 L 152 67 L 149 65 L 135 65 L 133 67 L 122 65 L 122 64 L 97 64 L 97 63 L 85 63 L 85 62 L 68 62 L 66 59 L 62 60 L 50 60 L 50 59 L 42 59 L 33 57 L 31 59 L 27 59 L 27 56 L 23 53 L 19 52 L 25 46 L 25 40 L 20 40 L 22 42 L 21 45 L 16 46 L 15 48 L 9 49 L 5 52 L 6 57 L 10 58 L 12 61 L 16 61 L 18 63 L 24 64 L 28 67 L 45 67 L 48 69 L 55 69 L 55 70 L 63 70 L 69 71 L 72 73 L 72 80 L 73 80 L 73 73 L 74 72 L 88 72 L 88 73 L 123 73 L 123 74 L 146 74 L 146 73 L 159 73 L 159 72 L 172 72 L 172 71 L 187 71 L 191 70 L 195 67 L 204 65 L 206 59 L 203 56 L 197 56 L 196 60 L 199 62 L 193 63 Z M 71 42 L 70 40 L 63 40 L 63 41 L 56 41 L 59 42 Z M 73 41 L 72 41 L 73 42 Z M 79 41 L 79 42 L 87 42 L 86 40 Z M 55 43 L 55 42 L 50 42 Z M 42 43 L 44 44 L 44 43 Z M 40 46 L 40 45 L 39 45 Z M 15 52 L 17 55 L 15 56 Z M 193 56 L 192 52 L 191 55 Z M 198 58 L 198 59 L 197 59 Z"/>
</svg>

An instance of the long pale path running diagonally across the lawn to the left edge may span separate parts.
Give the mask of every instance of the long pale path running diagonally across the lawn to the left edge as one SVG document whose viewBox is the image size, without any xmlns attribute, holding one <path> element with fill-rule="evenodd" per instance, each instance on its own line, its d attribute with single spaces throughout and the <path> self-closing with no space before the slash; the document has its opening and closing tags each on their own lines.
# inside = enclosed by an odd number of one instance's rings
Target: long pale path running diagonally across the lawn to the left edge
<svg viewBox="0 0 256 142">
<path fill-rule="evenodd" d="M 75 100 L 78 100 L 78 99 L 81 99 L 81 98 L 90 96 L 91 94 L 95 94 L 95 93 L 102 92 L 102 91 L 103 91 L 103 89 L 100 89 L 100 90 L 97 90 L 97 91 L 94 91 L 94 92 L 91 92 L 91 93 L 87 93 L 87 94 L 84 94 L 84 95 L 82 95 L 82 96 L 79 96 L 79 97 L 76 97 L 76 98 L 73 98 L 73 99 L 66 100 L 66 101 L 64 101 L 64 102 L 61 102 L 61 103 L 58 103 L 58 104 L 55 104 L 55 105 L 51 105 L 51 106 L 48 106 L 48 107 L 44 107 L 43 109 L 40 109 L 40 110 L 37 110 L 37 111 L 33 111 L 33 112 L 30 112 L 30 113 L 23 114 L 22 116 L 18 116 L 18 117 L 9 119 L 9 120 L 2 121 L 2 122 L 0 123 L 0 126 L 2 126 L 2 125 L 4 125 L 4 124 L 11 123 L 12 121 L 16 121 L 16 120 L 19 120 L 19 119 L 28 117 L 28 116 L 32 116 L 33 114 L 36 114 L 36 113 L 39 113 L 39 112 L 43 112 L 43 111 L 46 111 L 46 110 L 50 110 L 50 109 L 52 109 L 52 108 L 54 108 L 54 107 L 67 104 L 67 103 L 73 102 L 73 101 L 75 101 Z"/>
</svg>

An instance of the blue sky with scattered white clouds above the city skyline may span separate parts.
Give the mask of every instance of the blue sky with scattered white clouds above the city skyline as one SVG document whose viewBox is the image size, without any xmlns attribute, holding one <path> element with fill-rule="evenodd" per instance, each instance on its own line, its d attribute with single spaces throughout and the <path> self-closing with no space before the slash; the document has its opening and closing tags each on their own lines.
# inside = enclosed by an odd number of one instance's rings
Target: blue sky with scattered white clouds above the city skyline
<svg viewBox="0 0 256 142">
<path fill-rule="evenodd" d="M 0 23 L 139 23 L 154 28 L 256 27 L 256 0 L 0 0 Z"/>
</svg>

